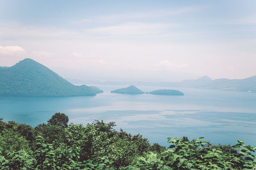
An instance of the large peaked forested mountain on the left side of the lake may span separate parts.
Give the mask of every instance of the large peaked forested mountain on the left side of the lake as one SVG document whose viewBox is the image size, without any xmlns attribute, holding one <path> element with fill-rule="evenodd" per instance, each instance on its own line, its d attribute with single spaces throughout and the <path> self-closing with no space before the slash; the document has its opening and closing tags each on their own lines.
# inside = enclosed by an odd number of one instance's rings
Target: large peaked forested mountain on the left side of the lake
<svg viewBox="0 0 256 170">
<path fill-rule="evenodd" d="M 0 96 L 94 96 L 102 90 L 76 86 L 32 59 L 0 67 Z"/>
</svg>

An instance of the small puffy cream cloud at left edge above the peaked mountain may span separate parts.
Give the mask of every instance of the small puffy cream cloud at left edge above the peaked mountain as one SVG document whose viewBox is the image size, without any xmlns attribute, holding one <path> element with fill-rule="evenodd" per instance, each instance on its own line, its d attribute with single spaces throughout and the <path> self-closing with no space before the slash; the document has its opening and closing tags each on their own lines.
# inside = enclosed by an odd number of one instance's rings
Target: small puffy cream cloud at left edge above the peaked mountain
<svg viewBox="0 0 256 170">
<path fill-rule="evenodd" d="M 26 50 L 20 46 L 0 46 L 0 56 L 19 56 L 26 54 Z"/>
</svg>

